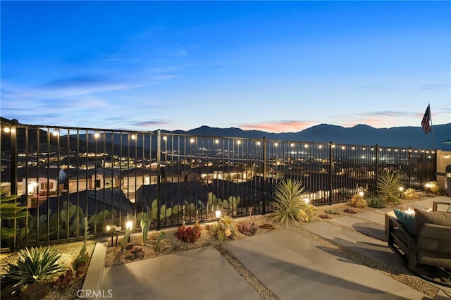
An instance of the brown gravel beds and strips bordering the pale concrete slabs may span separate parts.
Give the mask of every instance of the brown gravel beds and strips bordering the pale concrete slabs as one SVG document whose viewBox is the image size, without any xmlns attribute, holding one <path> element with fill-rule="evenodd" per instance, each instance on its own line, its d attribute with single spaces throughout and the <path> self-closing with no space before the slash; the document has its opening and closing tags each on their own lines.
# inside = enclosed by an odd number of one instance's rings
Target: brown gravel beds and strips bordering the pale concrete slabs
<svg viewBox="0 0 451 300">
<path fill-rule="evenodd" d="M 340 218 L 344 215 L 349 215 L 343 212 L 344 208 L 349 208 L 346 204 L 334 205 L 334 206 L 326 206 L 317 208 L 317 215 L 321 215 L 324 213 L 326 209 L 333 208 L 335 211 L 338 211 L 338 215 L 330 215 L 330 218 Z M 357 212 L 370 211 L 374 208 L 353 208 Z M 267 232 L 271 232 L 273 230 L 281 230 L 286 227 L 281 227 L 277 223 L 274 223 L 272 220 L 272 215 L 256 215 L 253 217 L 254 223 L 259 225 L 259 230 L 257 230 L 257 235 L 261 235 Z M 237 218 L 235 219 L 235 224 L 240 222 L 240 220 L 249 220 L 249 218 Z M 328 222 L 328 219 L 316 218 L 314 222 Z M 316 243 L 321 244 L 321 246 L 327 247 L 333 251 L 338 251 L 340 254 L 343 254 L 357 263 L 361 263 L 366 265 L 369 268 L 373 268 L 374 270 L 378 270 L 378 272 L 383 273 L 388 277 L 393 278 L 393 280 L 397 280 L 404 285 L 412 287 L 419 292 L 426 294 L 429 297 L 435 296 L 439 292 L 439 289 L 433 285 L 420 280 L 418 277 L 406 274 L 397 270 L 390 265 L 385 265 L 378 261 L 374 261 L 366 256 L 362 256 L 361 254 L 357 254 L 350 249 L 347 249 L 343 246 L 330 242 L 327 239 L 323 239 L 313 233 L 304 230 L 302 228 L 304 223 L 290 223 L 288 225 L 288 229 L 297 232 L 299 235 L 307 237 Z M 122 249 L 120 244 L 118 246 L 109 246 L 106 251 L 106 262 L 105 267 L 111 267 L 113 265 L 120 265 L 123 263 L 130 263 L 131 261 L 137 261 L 140 259 L 148 259 L 154 258 L 157 256 L 163 256 L 168 254 L 175 254 L 180 251 L 187 251 L 190 249 L 196 249 L 203 246 L 214 246 L 221 255 L 226 258 L 226 260 L 233 265 L 235 270 L 245 280 L 254 287 L 254 289 L 261 295 L 262 299 L 276 299 L 276 297 L 269 291 L 259 280 L 254 277 L 249 271 L 241 265 L 239 261 L 237 261 L 233 256 L 226 251 L 221 245 L 221 242 L 218 242 L 216 237 L 212 237 L 209 234 L 209 226 L 210 225 L 202 225 L 201 237 L 194 243 L 182 242 L 175 236 L 176 228 L 171 230 L 165 230 L 166 236 L 163 237 L 159 244 L 159 248 L 156 249 L 156 238 L 157 232 L 149 232 L 149 238 L 146 243 L 142 242 L 142 237 L 139 234 L 132 235 L 131 243 L 127 248 Z M 348 230 L 350 230 L 348 228 Z M 247 235 L 243 235 L 242 233 L 237 232 L 237 239 L 246 238 Z M 121 241 L 119 241 L 120 243 Z M 61 254 L 61 259 L 66 262 L 71 262 L 78 255 L 81 249 L 81 244 L 79 246 L 66 246 L 58 249 L 58 252 Z M 92 250 L 94 249 L 94 244 L 88 244 L 88 253 L 92 254 Z M 0 274 L 5 274 L 8 272 L 8 263 L 15 263 L 17 261 L 17 257 L 15 254 L 8 255 L 0 260 Z M 83 280 L 78 280 L 77 282 L 73 282 L 73 285 L 70 285 L 66 289 L 53 289 L 51 294 L 47 296 L 45 299 L 78 299 L 77 291 L 81 289 Z"/>
</svg>

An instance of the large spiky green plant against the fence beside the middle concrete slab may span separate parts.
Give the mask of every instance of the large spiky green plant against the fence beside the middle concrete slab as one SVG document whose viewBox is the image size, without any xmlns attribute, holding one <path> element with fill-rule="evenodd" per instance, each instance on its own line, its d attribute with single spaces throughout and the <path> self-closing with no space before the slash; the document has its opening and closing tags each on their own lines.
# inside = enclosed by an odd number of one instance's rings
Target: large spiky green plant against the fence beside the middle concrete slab
<svg viewBox="0 0 451 300">
<path fill-rule="evenodd" d="M 274 199 L 271 202 L 276 209 L 276 219 L 280 224 L 288 226 L 288 220 L 300 220 L 299 212 L 304 208 L 305 201 L 304 187 L 301 181 L 285 180 L 278 183 L 274 192 Z"/>
</svg>

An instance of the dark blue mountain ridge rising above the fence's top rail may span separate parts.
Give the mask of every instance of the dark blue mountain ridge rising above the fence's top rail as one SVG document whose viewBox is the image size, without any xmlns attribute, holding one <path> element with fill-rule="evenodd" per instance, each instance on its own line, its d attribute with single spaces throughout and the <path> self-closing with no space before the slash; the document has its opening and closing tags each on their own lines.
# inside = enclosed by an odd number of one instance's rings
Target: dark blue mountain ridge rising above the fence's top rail
<svg viewBox="0 0 451 300">
<path fill-rule="evenodd" d="M 166 131 L 168 132 L 168 131 Z M 206 135 L 218 137 L 243 137 L 252 139 L 278 139 L 294 142 L 333 142 L 334 144 L 376 145 L 392 147 L 412 147 L 414 149 L 441 149 L 451 151 L 451 144 L 442 142 L 451 140 L 451 123 L 433 125 L 433 133 L 427 135 L 420 126 L 374 128 L 369 125 L 342 127 L 320 124 L 299 132 L 272 133 L 259 130 L 241 130 L 240 128 L 218 128 L 201 126 L 188 131 L 175 130 L 173 133 L 188 135 Z M 434 141 L 433 141 L 434 139 Z"/>
</svg>

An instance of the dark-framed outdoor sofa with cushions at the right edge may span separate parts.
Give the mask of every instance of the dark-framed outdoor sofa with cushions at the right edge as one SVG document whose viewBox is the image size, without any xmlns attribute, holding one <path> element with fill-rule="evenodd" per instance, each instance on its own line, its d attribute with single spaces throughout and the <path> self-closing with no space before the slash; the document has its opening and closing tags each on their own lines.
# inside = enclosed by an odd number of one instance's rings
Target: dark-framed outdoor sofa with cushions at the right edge
<svg viewBox="0 0 451 300">
<path fill-rule="evenodd" d="M 433 201 L 431 211 L 388 212 L 385 232 L 388 246 L 410 271 L 451 287 L 450 202 Z"/>
</svg>

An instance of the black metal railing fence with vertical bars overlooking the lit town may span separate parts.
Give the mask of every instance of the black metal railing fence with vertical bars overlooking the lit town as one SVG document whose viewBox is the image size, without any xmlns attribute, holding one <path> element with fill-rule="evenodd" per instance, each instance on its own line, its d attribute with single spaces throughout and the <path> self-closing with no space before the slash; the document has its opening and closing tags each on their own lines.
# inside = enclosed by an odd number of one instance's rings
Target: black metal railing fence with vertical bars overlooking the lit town
<svg viewBox="0 0 451 300">
<path fill-rule="evenodd" d="M 18 195 L 28 218 L 11 248 L 81 239 L 106 225 L 152 220 L 151 229 L 273 211 L 280 180 L 300 180 L 314 205 L 376 195 L 378 176 L 404 187 L 435 180 L 435 152 L 421 149 L 207 137 L 80 127 L 1 125 L 2 189 Z M 9 129 L 9 132 L 5 130 Z M 9 185 L 8 185 L 9 182 Z"/>
</svg>

